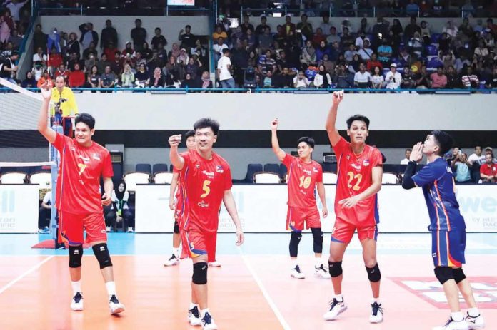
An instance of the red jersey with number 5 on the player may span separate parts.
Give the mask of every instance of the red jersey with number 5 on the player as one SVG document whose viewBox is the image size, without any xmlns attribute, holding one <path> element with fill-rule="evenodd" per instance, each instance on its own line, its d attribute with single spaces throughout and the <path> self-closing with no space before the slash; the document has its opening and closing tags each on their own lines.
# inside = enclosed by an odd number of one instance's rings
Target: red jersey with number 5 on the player
<svg viewBox="0 0 497 330">
<path fill-rule="evenodd" d="M 224 192 L 231 189 L 229 164 L 216 153 L 211 160 L 192 151 L 184 153 L 185 165 L 180 171 L 183 193 L 184 230 L 196 228 L 216 232 Z"/>
</svg>

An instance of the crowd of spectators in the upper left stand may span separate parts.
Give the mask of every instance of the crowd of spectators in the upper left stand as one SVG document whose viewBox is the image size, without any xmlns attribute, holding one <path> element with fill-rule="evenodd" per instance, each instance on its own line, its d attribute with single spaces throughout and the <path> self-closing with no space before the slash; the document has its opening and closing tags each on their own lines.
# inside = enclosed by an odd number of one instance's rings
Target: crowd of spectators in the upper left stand
<svg viewBox="0 0 497 330">
<path fill-rule="evenodd" d="M 209 51 L 201 38 L 185 26 L 170 50 L 161 28 L 156 27 L 149 44 L 149 31 L 136 19 L 124 49 L 116 48 L 118 36 L 125 35 L 106 20 L 100 33 L 91 22 L 81 24 L 79 33 L 45 33 L 40 24 L 34 29 L 32 70 L 19 80 L 24 87 L 41 86 L 44 81 L 64 76 L 71 88 L 211 88 Z M 11 76 L 15 80 L 15 75 Z M 105 92 L 105 91 L 104 91 Z"/>
</svg>

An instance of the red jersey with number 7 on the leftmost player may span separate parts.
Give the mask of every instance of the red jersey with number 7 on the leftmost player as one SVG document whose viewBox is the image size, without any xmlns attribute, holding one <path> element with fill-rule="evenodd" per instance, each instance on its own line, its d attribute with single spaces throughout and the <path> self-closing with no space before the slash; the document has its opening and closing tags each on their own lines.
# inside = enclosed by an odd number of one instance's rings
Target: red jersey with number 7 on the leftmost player
<svg viewBox="0 0 497 330">
<path fill-rule="evenodd" d="M 94 142 L 84 148 L 76 139 L 59 133 L 54 147 L 61 153 L 57 210 L 75 214 L 102 213 L 100 177 L 114 175 L 109 150 Z"/>
</svg>

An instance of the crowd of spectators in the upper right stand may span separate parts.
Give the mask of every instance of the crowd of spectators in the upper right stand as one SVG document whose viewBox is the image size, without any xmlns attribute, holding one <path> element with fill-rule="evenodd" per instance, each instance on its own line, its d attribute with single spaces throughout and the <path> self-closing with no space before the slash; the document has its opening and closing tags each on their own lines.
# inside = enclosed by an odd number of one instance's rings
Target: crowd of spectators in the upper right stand
<svg viewBox="0 0 497 330">
<path fill-rule="evenodd" d="M 244 16 L 235 29 L 228 19 L 218 22 L 214 59 L 229 49 L 236 87 L 497 88 L 493 19 L 473 26 L 448 20 L 442 31 L 416 17 L 406 26 L 363 18 L 355 28 L 347 19 L 333 26 L 328 16 L 319 26 L 306 14 L 296 24 L 293 19 L 286 16 L 276 31 L 265 16 L 256 26 Z"/>
</svg>

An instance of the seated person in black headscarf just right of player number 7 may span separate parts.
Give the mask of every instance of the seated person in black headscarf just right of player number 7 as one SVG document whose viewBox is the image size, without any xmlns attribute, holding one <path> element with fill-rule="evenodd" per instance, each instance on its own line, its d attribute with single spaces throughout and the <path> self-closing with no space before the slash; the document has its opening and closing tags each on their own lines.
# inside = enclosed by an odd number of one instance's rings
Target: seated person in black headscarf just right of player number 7
<svg viewBox="0 0 497 330">
<path fill-rule="evenodd" d="M 116 190 L 112 191 L 111 210 L 105 215 L 105 225 L 107 232 L 111 227 L 116 228 L 119 222 L 123 222 L 124 230 L 133 232 L 134 217 L 128 207 L 129 192 L 126 190 L 126 183 L 120 182 Z"/>
</svg>

